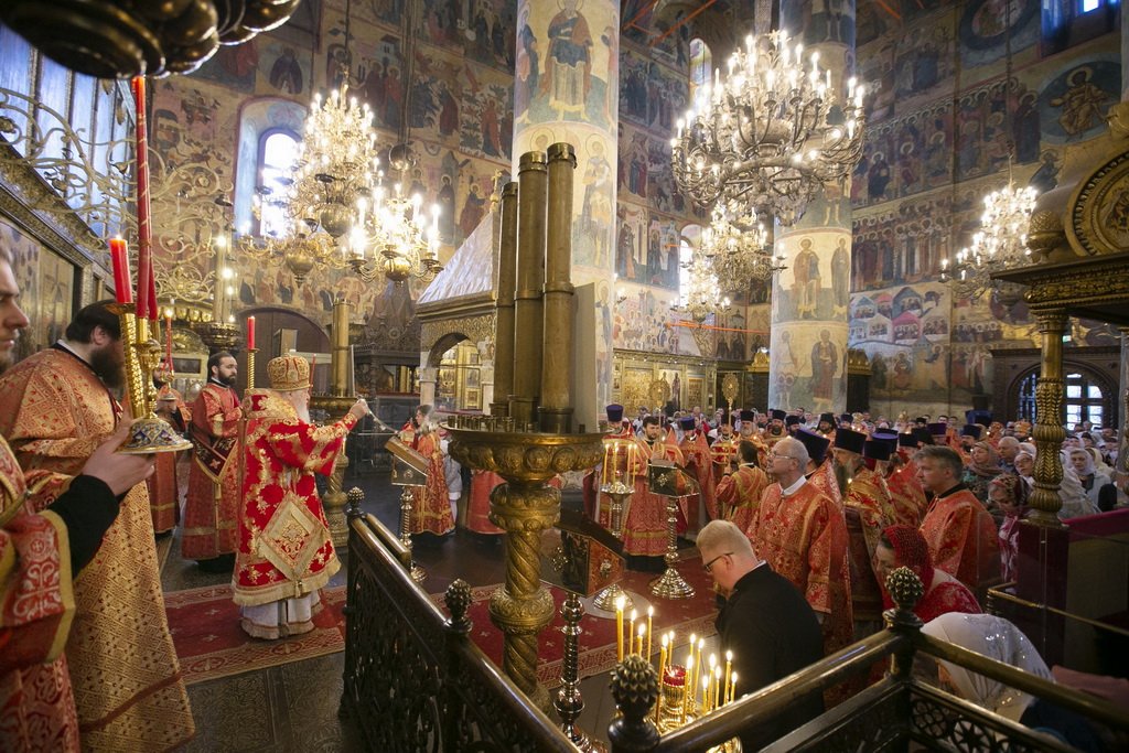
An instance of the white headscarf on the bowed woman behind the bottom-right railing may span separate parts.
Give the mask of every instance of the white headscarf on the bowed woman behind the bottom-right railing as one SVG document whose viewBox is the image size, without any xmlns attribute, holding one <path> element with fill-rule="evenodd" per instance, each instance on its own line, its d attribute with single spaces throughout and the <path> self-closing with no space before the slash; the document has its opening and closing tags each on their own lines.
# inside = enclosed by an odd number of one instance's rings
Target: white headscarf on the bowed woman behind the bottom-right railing
<svg viewBox="0 0 1129 753">
<path fill-rule="evenodd" d="M 1004 618 L 994 614 L 949 612 L 927 622 L 921 632 L 1053 682 L 1047 663 L 1039 656 L 1035 647 L 1018 628 Z M 1035 700 L 1030 693 L 1009 688 L 998 680 L 970 672 L 951 662 L 940 662 L 940 665 L 953 678 L 956 692 L 962 698 L 1012 721 L 1018 721 Z"/>
</svg>

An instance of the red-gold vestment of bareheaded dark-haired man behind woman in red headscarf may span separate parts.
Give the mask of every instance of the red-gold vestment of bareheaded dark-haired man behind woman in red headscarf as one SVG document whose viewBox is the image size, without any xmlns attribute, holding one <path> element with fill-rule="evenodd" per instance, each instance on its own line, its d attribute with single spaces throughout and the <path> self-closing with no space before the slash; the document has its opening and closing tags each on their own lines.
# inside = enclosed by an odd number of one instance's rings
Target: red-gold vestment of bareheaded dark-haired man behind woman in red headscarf
<svg viewBox="0 0 1129 753">
<path fill-rule="evenodd" d="M 991 515 L 963 485 L 929 504 L 921 535 L 935 567 L 973 593 L 999 580 L 999 534 Z"/>
</svg>

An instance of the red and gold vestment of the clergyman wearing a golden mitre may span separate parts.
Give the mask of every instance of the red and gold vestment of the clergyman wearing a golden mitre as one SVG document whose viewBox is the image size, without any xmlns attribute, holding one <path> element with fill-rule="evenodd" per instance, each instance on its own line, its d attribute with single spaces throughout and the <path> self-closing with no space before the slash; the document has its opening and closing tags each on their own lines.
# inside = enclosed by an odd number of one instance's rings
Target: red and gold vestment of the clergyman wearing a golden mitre
<svg viewBox="0 0 1129 753">
<path fill-rule="evenodd" d="M 290 403 L 270 391 L 247 395 L 236 604 L 305 596 L 341 567 L 314 474 L 333 472 L 356 423 L 349 413 L 317 427 L 301 421 Z"/>
</svg>

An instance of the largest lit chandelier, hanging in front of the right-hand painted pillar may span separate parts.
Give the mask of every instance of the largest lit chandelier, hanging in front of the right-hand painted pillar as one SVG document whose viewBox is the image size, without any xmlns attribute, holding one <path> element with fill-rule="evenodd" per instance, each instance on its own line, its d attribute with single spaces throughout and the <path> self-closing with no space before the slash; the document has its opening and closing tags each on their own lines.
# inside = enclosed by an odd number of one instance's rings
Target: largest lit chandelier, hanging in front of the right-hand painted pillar
<svg viewBox="0 0 1129 753">
<path fill-rule="evenodd" d="M 819 51 L 805 58 L 782 30 L 750 35 L 725 79 L 714 73 L 671 141 L 679 187 L 701 207 L 724 201 L 793 225 L 861 158 L 864 87 L 850 78 L 838 104 Z"/>
</svg>

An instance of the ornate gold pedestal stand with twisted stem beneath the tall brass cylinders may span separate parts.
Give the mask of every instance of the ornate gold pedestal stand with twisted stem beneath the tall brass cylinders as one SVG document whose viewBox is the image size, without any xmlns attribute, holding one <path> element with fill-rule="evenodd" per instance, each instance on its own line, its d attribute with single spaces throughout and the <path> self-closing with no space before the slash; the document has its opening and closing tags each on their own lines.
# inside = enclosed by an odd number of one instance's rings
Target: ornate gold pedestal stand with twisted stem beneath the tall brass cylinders
<svg viewBox="0 0 1129 753">
<path fill-rule="evenodd" d="M 504 636 L 502 669 L 530 699 L 549 708 L 537 682 L 537 633 L 553 615 L 541 584 L 541 535 L 560 519 L 558 473 L 593 467 L 603 456 L 601 434 L 550 435 L 498 431 L 507 419 L 453 417 L 450 456 L 464 466 L 493 471 L 506 483 L 490 492 L 490 522 L 506 531 L 506 583 L 490 597 L 490 620 Z"/>
</svg>

